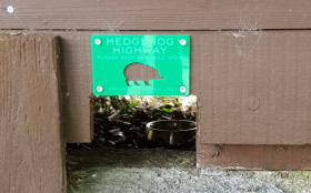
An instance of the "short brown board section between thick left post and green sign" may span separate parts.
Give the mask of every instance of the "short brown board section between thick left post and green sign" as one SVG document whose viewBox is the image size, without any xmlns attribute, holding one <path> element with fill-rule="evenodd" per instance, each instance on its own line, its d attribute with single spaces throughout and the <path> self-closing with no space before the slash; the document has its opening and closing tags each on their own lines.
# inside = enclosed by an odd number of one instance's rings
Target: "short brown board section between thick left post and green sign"
<svg viewBox="0 0 311 193">
<path fill-rule="evenodd" d="M 88 143 L 92 140 L 91 32 L 53 32 L 61 37 L 62 96 L 66 140 Z"/>
</svg>

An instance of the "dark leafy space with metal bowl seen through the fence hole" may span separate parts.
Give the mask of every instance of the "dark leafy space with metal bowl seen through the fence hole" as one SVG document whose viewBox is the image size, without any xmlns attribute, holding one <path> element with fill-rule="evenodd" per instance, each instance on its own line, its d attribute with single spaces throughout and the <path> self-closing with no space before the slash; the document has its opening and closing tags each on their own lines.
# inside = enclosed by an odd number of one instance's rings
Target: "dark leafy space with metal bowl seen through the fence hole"
<svg viewBox="0 0 311 193">
<path fill-rule="evenodd" d="M 89 148 L 195 150 L 194 95 L 98 96 L 93 109 L 94 138 L 91 144 L 86 144 Z M 154 121 L 157 124 L 152 123 Z M 159 121 L 163 123 L 159 124 Z M 193 122 L 192 129 L 185 131 L 181 121 Z M 148 123 L 153 131 L 147 129 Z M 182 131 L 172 131 L 178 130 L 173 125 L 182 126 Z"/>
</svg>

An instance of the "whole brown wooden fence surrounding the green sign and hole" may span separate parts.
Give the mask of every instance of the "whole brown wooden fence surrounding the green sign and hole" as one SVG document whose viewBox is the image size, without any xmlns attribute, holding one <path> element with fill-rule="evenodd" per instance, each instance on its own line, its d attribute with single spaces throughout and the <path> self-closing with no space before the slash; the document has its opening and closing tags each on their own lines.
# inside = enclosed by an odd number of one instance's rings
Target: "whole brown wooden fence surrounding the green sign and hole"
<svg viewBox="0 0 311 193">
<path fill-rule="evenodd" d="M 96 33 L 191 35 L 199 165 L 311 169 L 311 1 L 2 0 L 0 29 L 0 192 L 62 191 Z"/>
</svg>

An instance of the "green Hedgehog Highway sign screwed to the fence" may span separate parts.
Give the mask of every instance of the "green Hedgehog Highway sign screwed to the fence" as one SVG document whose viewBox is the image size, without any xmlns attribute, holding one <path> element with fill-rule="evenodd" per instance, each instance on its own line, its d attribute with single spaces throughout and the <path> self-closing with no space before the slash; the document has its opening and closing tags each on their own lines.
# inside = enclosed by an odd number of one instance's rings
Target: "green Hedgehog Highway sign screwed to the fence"
<svg viewBox="0 0 311 193">
<path fill-rule="evenodd" d="M 189 95 L 190 37 L 93 34 L 94 95 Z"/>
</svg>

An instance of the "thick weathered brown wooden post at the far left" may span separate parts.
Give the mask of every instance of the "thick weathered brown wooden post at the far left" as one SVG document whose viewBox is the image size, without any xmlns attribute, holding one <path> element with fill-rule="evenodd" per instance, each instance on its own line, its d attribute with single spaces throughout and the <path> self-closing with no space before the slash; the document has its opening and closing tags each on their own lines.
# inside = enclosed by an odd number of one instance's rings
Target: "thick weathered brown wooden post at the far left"
<svg viewBox="0 0 311 193">
<path fill-rule="evenodd" d="M 0 34 L 0 192 L 64 191 L 58 58 L 53 35 Z"/>
</svg>

